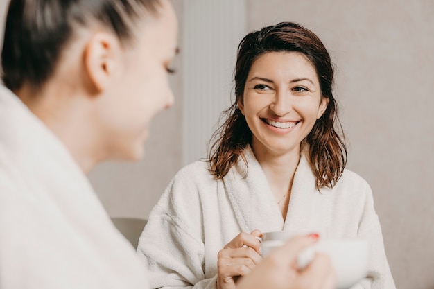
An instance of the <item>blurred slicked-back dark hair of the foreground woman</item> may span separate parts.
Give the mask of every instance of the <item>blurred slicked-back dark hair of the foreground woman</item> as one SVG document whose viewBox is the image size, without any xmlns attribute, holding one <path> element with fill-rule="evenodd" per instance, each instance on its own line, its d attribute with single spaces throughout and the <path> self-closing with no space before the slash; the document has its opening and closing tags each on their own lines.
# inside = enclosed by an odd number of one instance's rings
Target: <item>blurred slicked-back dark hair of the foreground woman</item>
<svg viewBox="0 0 434 289">
<path fill-rule="evenodd" d="M 157 15 L 159 0 L 11 0 L 1 51 L 2 79 L 14 91 L 35 89 L 49 79 L 76 26 L 98 21 L 121 42 L 132 39 L 132 24 Z"/>
</svg>

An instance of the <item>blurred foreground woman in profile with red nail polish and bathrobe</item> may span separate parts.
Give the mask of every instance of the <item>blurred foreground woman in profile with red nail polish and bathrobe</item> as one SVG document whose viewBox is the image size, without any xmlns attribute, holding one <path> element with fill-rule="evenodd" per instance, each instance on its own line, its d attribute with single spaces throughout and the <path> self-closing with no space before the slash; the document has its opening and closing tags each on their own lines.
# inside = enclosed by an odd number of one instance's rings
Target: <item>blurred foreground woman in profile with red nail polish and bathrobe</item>
<svg viewBox="0 0 434 289">
<path fill-rule="evenodd" d="M 173 104 L 167 73 L 176 53 L 167 0 L 10 1 L 1 54 L 0 288 L 148 288 L 85 173 L 107 159 L 141 158 L 150 120 Z M 320 288 L 327 259 L 303 274 L 290 267 L 311 243 L 288 243 L 241 288 Z M 279 272 L 291 278 L 275 279 Z"/>
</svg>

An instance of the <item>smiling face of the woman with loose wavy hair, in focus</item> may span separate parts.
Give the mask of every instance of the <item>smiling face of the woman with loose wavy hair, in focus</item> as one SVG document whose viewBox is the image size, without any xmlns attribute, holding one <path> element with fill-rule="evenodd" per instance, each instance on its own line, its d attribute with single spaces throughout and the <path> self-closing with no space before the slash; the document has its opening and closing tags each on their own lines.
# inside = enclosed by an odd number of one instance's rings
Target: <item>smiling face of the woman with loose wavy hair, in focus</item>
<svg viewBox="0 0 434 289">
<path fill-rule="evenodd" d="M 255 60 L 238 107 L 256 155 L 300 154 L 300 143 L 327 108 L 315 67 L 302 53 L 269 52 Z"/>
</svg>

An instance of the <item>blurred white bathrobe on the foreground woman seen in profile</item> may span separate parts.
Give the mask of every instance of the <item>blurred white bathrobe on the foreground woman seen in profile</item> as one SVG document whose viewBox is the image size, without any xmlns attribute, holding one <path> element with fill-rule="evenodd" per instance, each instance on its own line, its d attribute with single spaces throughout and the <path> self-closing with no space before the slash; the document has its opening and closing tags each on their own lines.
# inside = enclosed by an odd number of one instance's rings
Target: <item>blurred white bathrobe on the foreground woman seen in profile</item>
<svg viewBox="0 0 434 289">
<path fill-rule="evenodd" d="M 63 144 L 0 87 L 0 288 L 148 288 Z"/>
</svg>

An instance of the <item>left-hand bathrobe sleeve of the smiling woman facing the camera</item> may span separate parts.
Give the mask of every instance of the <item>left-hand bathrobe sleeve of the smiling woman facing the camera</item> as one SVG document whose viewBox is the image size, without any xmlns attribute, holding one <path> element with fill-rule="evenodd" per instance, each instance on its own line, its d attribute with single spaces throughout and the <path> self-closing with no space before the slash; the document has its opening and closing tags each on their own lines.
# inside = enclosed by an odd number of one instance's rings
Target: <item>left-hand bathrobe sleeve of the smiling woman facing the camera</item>
<svg viewBox="0 0 434 289">
<path fill-rule="evenodd" d="M 151 288 L 216 288 L 216 276 L 205 276 L 200 188 L 186 170 L 168 185 L 139 240 Z"/>
</svg>

